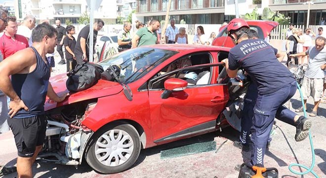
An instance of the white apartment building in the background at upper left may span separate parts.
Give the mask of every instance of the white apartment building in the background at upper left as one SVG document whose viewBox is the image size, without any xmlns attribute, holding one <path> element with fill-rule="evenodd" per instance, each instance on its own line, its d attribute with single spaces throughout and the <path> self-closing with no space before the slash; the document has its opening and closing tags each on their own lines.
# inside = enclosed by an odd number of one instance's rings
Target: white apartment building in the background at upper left
<svg viewBox="0 0 326 178">
<path fill-rule="evenodd" d="M 57 19 L 61 23 L 70 20 L 78 24 L 79 17 L 88 9 L 86 0 L 15 0 L 14 3 L 18 19 L 32 14 L 38 22 L 48 19 L 51 24 Z M 94 12 L 94 18 L 101 18 L 106 24 L 114 24 L 117 18 L 116 0 L 103 0 Z"/>
</svg>

